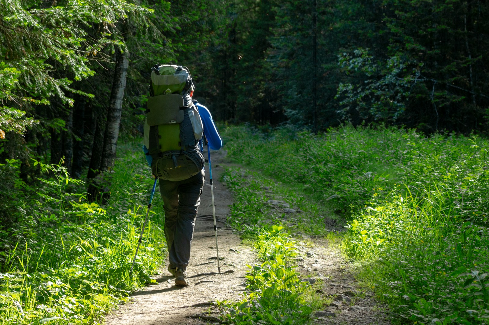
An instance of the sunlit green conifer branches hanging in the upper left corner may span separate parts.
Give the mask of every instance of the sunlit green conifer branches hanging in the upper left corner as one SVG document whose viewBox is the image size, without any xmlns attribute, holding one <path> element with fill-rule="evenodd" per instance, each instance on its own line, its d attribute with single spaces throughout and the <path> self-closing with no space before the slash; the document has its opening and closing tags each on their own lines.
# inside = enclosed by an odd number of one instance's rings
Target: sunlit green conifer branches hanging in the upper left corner
<svg viewBox="0 0 489 325">
<path fill-rule="evenodd" d="M 72 80 L 93 76 L 90 60 L 108 59 L 99 54 L 120 43 L 118 20 L 144 12 L 149 11 L 126 1 L 68 1 L 51 7 L 1 1 L 0 100 L 9 106 L 2 108 L 0 127 L 24 132 L 34 121 L 22 118 L 21 107 L 25 111 L 29 104 L 47 104 L 51 97 L 72 105 L 66 91 L 91 96 L 72 88 Z M 93 33 L 96 25 L 100 28 Z"/>
</svg>

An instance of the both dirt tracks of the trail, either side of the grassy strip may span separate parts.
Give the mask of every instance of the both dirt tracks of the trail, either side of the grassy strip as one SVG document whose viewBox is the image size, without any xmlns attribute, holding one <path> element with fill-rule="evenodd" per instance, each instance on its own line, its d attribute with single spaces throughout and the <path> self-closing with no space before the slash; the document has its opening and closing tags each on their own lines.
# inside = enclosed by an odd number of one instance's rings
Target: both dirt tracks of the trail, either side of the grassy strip
<svg viewBox="0 0 489 325">
<path fill-rule="evenodd" d="M 223 222 L 232 203 L 231 194 L 219 182 L 225 163 L 225 151 L 212 152 L 221 274 L 200 275 L 218 270 L 211 188 L 206 168 L 206 183 L 201 196 L 190 265 L 187 268 L 190 285 L 183 288 L 175 286 L 175 280 L 165 266 L 161 275 L 154 277 L 158 284 L 134 292 L 129 303 L 106 316 L 107 325 L 207 324 L 206 320 L 187 316 L 203 312 L 208 314 L 210 302 L 235 301 L 242 297 L 244 275 L 248 270 L 246 264 L 254 264 L 256 257 L 251 247 L 242 245 L 239 236 L 232 234 Z M 160 200 L 157 196 L 155 199 Z M 321 294 L 342 298 L 334 300 L 332 305 L 324 308 L 324 313 L 313 317 L 314 324 L 390 324 L 382 308 L 379 309 L 368 294 L 360 294 L 358 297 L 356 282 L 347 271 L 348 265 L 337 249 L 330 247 L 324 240 L 306 239 L 301 243 L 299 251 L 303 261 L 299 261 L 297 270 L 303 277 L 322 280 Z"/>
</svg>

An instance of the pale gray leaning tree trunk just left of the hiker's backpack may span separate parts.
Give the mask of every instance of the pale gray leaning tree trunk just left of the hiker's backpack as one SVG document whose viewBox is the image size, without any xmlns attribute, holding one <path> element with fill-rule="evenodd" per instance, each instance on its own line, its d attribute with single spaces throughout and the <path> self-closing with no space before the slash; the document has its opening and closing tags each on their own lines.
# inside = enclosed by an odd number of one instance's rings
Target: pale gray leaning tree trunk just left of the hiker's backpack
<svg viewBox="0 0 489 325">
<path fill-rule="evenodd" d="M 119 137 L 119 125 L 121 122 L 122 101 L 126 89 L 127 68 L 129 65 L 129 52 L 117 51 L 117 63 L 115 64 L 114 81 L 112 84 L 109 112 L 104 134 L 104 151 L 102 155 L 101 171 L 107 171 L 115 162 L 115 151 Z"/>
</svg>

